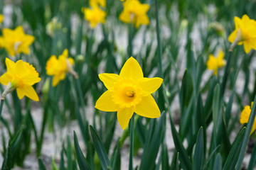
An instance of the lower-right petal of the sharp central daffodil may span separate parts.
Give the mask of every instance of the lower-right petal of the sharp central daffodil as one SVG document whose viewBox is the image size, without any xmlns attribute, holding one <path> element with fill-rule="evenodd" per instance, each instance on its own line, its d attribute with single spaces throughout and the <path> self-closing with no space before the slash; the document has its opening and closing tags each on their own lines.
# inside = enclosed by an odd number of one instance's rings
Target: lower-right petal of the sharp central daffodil
<svg viewBox="0 0 256 170">
<path fill-rule="evenodd" d="M 142 101 L 136 106 L 134 112 L 146 118 L 158 118 L 161 116 L 159 107 L 151 95 L 142 97 Z"/>
</svg>

